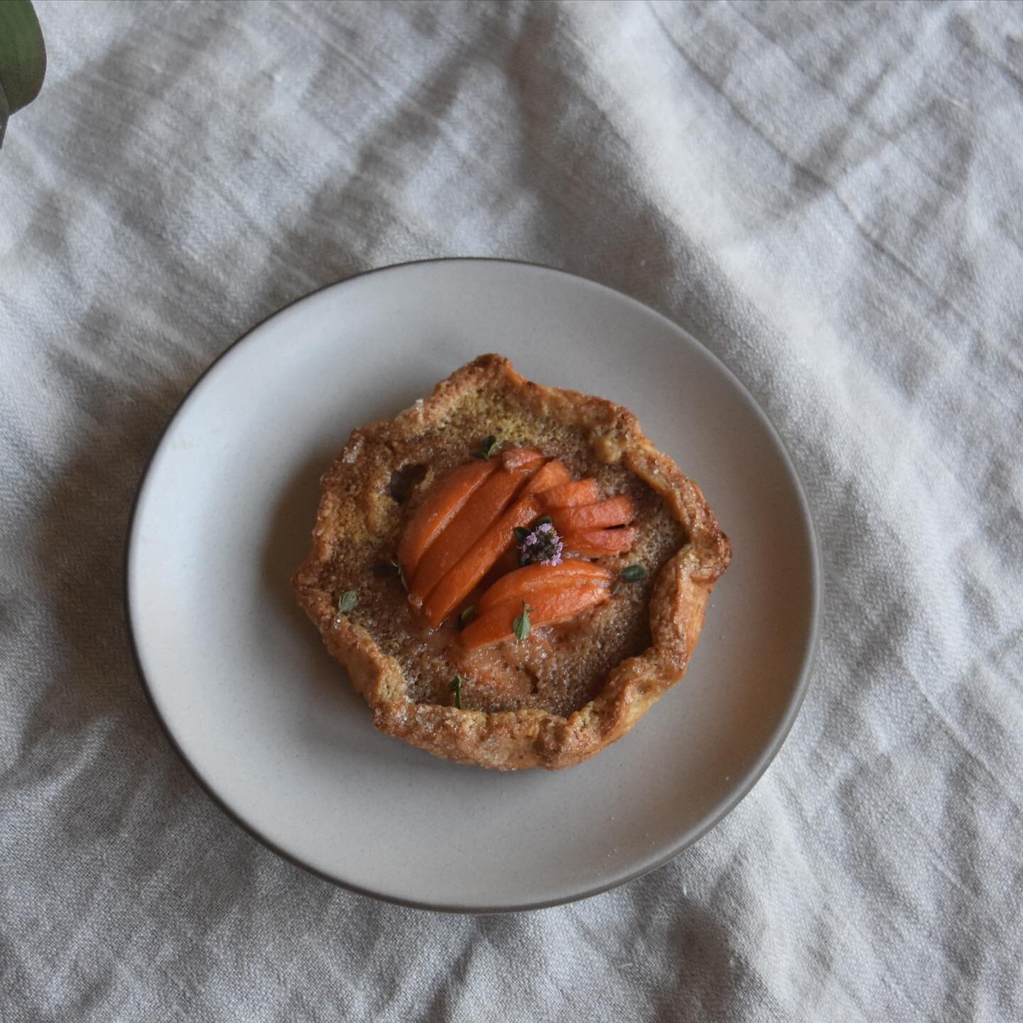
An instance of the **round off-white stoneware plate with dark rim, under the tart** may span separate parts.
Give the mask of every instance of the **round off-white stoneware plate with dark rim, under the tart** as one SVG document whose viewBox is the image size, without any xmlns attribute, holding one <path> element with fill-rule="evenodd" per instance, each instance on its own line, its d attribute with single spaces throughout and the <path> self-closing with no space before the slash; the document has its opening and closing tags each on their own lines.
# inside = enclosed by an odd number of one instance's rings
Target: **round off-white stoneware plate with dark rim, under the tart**
<svg viewBox="0 0 1023 1023">
<path fill-rule="evenodd" d="M 733 544 L 685 678 L 619 743 L 559 772 L 462 766 L 376 732 L 288 588 L 349 432 L 484 352 L 631 409 Z M 142 483 L 127 592 L 152 705 L 239 824 L 356 891 L 483 913 L 611 888 L 720 820 L 796 715 L 819 583 L 777 435 L 698 342 L 568 273 L 440 260 L 317 292 L 214 363 Z"/>
</svg>

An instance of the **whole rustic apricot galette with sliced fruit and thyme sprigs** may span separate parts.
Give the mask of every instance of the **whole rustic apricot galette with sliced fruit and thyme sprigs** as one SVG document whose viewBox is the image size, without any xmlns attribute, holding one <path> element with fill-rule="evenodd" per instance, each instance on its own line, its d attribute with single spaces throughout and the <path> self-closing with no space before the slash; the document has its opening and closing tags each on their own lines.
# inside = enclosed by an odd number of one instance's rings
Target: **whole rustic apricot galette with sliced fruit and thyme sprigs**
<svg viewBox="0 0 1023 1023">
<path fill-rule="evenodd" d="M 373 724 L 484 767 L 566 767 L 684 673 L 730 544 L 631 412 L 497 355 L 356 430 L 299 604 Z"/>
</svg>

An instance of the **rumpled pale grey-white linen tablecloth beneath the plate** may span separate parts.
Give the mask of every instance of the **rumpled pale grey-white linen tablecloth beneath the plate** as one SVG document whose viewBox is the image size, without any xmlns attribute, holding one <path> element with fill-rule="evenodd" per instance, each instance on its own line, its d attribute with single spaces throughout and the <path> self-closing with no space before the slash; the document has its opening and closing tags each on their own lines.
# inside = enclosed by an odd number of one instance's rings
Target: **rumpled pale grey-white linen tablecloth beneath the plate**
<svg viewBox="0 0 1023 1023">
<path fill-rule="evenodd" d="M 1023 8 L 72 3 L 0 150 L 0 1018 L 1023 1018 Z M 432 915 L 228 820 L 142 694 L 135 488 L 282 304 L 445 255 L 677 321 L 822 550 L 774 764 L 669 865 Z"/>
</svg>

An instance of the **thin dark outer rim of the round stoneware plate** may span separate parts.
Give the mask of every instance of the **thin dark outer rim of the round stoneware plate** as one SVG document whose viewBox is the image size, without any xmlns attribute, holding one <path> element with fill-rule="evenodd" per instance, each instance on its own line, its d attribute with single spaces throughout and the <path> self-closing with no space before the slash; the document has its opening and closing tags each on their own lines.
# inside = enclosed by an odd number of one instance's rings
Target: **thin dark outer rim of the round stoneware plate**
<svg viewBox="0 0 1023 1023">
<path fill-rule="evenodd" d="M 342 878 L 335 877 L 333 875 L 327 874 L 311 864 L 303 861 L 294 853 L 282 849 L 279 845 L 273 842 L 271 839 L 267 838 L 265 835 L 261 834 L 259 830 L 247 821 L 238 812 L 233 810 L 228 806 L 224 800 L 217 794 L 213 789 L 211 783 L 209 783 L 199 772 L 198 768 L 189 760 L 184 750 L 179 745 L 174 733 L 171 731 L 170 726 L 161 714 L 160 709 L 157 705 L 155 697 L 153 696 L 152 688 L 149 679 L 146 677 L 145 671 L 142 668 L 141 657 L 139 656 L 138 643 L 135 636 L 135 625 L 132 618 L 132 601 L 131 601 L 131 564 L 132 564 L 132 550 L 134 547 L 135 540 L 135 526 L 136 520 L 138 518 L 139 504 L 141 502 L 142 494 L 145 491 L 146 483 L 148 482 L 150 473 L 152 471 L 153 463 L 157 459 L 157 454 L 163 447 L 164 440 L 167 437 L 172 425 L 177 420 L 178 416 L 183 411 L 184 407 L 187 405 L 188 400 L 191 398 L 192 394 L 199 387 L 199 385 L 206 380 L 206 377 L 213 371 L 213 369 L 229 355 L 235 348 L 246 342 L 252 337 L 257 330 L 259 330 L 265 323 L 269 322 L 275 316 L 284 313 L 286 310 L 291 309 L 293 306 L 298 305 L 300 302 L 305 302 L 307 299 L 312 298 L 315 295 L 319 295 L 322 292 L 327 291 L 331 287 L 338 287 L 341 284 L 349 283 L 350 281 L 356 280 L 360 277 L 367 277 L 370 274 L 383 273 L 387 270 L 397 270 L 402 267 L 409 266 L 419 266 L 429 263 L 505 263 L 511 264 L 513 266 L 528 266 L 534 269 L 546 270 L 552 273 L 562 274 L 566 277 L 574 277 L 577 280 L 583 280 L 589 284 L 594 284 L 597 287 L 604 288 L 606 291 L 614 293 L 618 298 L 625 299 L 627 302 L 634 303 L 635 305 L 641 307 L 646 312 L 653 313 L 654 316 L 661 320 L 664 320 L 668 325 L 676 330 L 681 330 L 688 339 L 695 342 L 703 352 L 712 360 L 715 367 L 724 373 L 726 377 L 739 389 L 739 391 L 746 397 L 749 403 L 753 406 L 754 410 L 763 421 L 770 438 L 773 440 L 777 450 L 781 452 L 782 460 L 786 468 L 788 469 L 792 481 L 795 485 L 796 496 L 799 500 L 799 504 L 803 511 L 803 518 L 806 523 L 807 538 L 809 541 L 809 552 L 810 552 L 810 582 L 811 582 L 811 594 L 810 594 L 810 630 L 808 641 L 806 644 L 806 650 L 803 655 L 802 664 L 799 669 L 799 678 L 796 682 L 796 687 L 794 690 L 794 695 L 789 702 L 789 706 L 786 708 L 785 715 L 779 727 L 775 729 L 771 741 L 761 752 L 758 762 L 756 763 L 753 770 L 749 773 L 746 782 L 736 790 L 736 792 L 726 799 L 717 809 L 717 811 L 696 832 L 688 835 L 685 839 L 673 845 L 671 849 L 665 853 L 663 856 L 659 857 L 652 863 L 646 863 L 642 866 L 626 874 L 624 877 L 616 878 L 615 880 L 609 882 L 608 884 L 596 885 L 590 888 L 586 888 L 583 891 L 576 892 L 565 897 L 552 898 L 552 899 L 542 899 L 539 901 L 526 902 L 519 905 L 505 905 L 505 906 L 474 906 L 474 905 L 461 905 L 457 903 L 437 903 L 429 901 L 419 901 L 416 899 L 401 898 L 395 895 L 389 895 L 384 892 L 373 891 L 372 889 L 365 888 L 361 885 L 354 884 L 351 881 L 345 881 Z M 718 357 L 718 355 L 711 351 L 699 338 L 696 338 L 693 333 L 686 330 L 684 327 L 679 326 L 674 320 L 666 316 L 664 313 L 655 309 L 653 306 L 648 305 L 646 302 L 639 299 L 633 298 L 631 295 L 627 295 L 625 292 L 619 291 L 617 287 L 612 287 L 610 284 L 605 284 L 603 281 L 594 280 L 591 277 L 586 277 L 579 273 L 574 273 L 571 270 L 566 270 L 562 267 L 549 266 L 544 263 L 536 263 L 530 260 L 520 260 L 513 259 L 508 257 L 499 256 L 442 256 L 442 257 L 428 257 L 425 259 L 414 259 L 414 260 L 404 260 L 399 263 L 389 263 L 384 266 L 370 267 L 367 270 L 360 270 L 357 273 L 350 274 L 347 277 L 341 277 L 338 280 L 332 280 L 329 283 L 322 284 L 319 287 L 307 293 L 306 295 L 301 295 L 291 302 L 274 309 L 272 312 L 268 313 L 258 322 L 252 324 L 248 329 L 241 335 L 235 338 L 219 355 L 217 355 L 213 361 L 199 373 L 199 375 L 192 382 L 185 393 L 182 395 L 181 399 L 175 405 L 174 410 L 168 416 L 167 421 L 164 424 L 163 429 L 160 431 L 159 436 L 153 442 L 152 448 L 146 457 L 145 465 L 142 469 L 142 473 L 139 477 L 138 485 L 135 488 L 135 495 L 132 499 L 131 511 L 128 516 L 128 526 L 125 534 L 125 547 L 124 547 L 124 562 L 122 570 L 122 592 L 124 595 L 124 615 L 125 623 L 127 625 L 128 632 L 128 647 L 131 653 L 132 661 L 135 665 L 135 672 L 138 676 L 139 682 L 141 683 L 142 692 L 145 695 L 146 702 L 149 705 L 149 709 L 152 711 L 157 722 L 160 725 L 161 730 L 171 745 L 171 749 L 177 754 L 178 759 L 185 765 L 188 772 L 191 774 L 192 779 L 198 784 L 199 788 L 206 793 L 206 795 L 213 801 L 214 805 L 217 806 L 221 812 L 223 812 L 228 819 L 232 820 L 237 825 L 242 831 L 247 832 L 251 838 L 256 839 L 261 845 L 265 846 L 271 852 L 276 853 L 285 861 L 292 863 L 295 866 L 300 868 L 307 874 L 311 874 L 323 881 L 328 882 L 339 888 L 344 888 L 347 891 L 353 892 L 356 895 L 363 895 L 368 898 L 375 899 L 381 902 L 387 902 L 391 905 L 401 905 L 411 909 L 421 909 L 431 913 L 439 914 L 459 914 L 459 915 L 498 915 L 498 914 L 509 914 L 509 913 L 528 913 L 534 909 L 547 909 L 552 906 L 567 905 L 572 902 L 578 902 L 582 899 L 592 898 L 595 895 L 601 895 L 604 892 L 611 891 L 614 888 L 618 888 L 622 885 L 629 884 L 638 878 L 644 877 L 648 874 L 652 874 L 654 871 L 660 870 L 666 863 L 674 859 L 679 853 L 684 849 L 688 848 L 691 845 L 695 845 L 700 841 L 705 835 L 716 828 L 737 806 L 753 791 L 757 783 L 763 777 L 767 768 L 773 763 L 774 758 L 777 756 L 782 747 L 785 745 L 786 740 L 789 738 L 789 733 L 792 730 L 793 725 L 796 723 L 796 718 L 799 716 L 799 712 L 802 709 L 803 701 L 806 697 L 806 691 L 809 688 L 810 678 L 813 674 L 813 669 L 816 666 L 817 652 L 819 649 L 820 640 L 820 609 L 824 603 L 824 579 L 820 569 L 820 549 L 817 540 L 817 531 L 813 523 L 813 516 L 811 514 L 810 502 L 806 496 L 806 489 L 803 486 L 803 481 L 796 470 L 796 464 L 789 453 L 788 447 L 786 447 L 785 442 L 782 439 L 782 435 L 779 433 L 773 421 L 767 415 L 766 411 L 761 407 L 760 403 L 754 398 L 750 389 L 743 383 L 742 380 Z"/>
</svg>

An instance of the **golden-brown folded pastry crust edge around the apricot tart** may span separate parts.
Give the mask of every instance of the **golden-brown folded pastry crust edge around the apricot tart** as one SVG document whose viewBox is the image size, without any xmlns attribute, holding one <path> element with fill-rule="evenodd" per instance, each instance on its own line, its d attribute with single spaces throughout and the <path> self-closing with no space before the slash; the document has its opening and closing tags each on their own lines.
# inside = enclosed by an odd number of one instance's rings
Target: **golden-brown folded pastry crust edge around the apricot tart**
<svg viewBox="0 0 1023 1023">
<path fill-rule="evenodd" d="M 684 542 L 661 567 L 651 593 L 651 646 L 623 660 L 590 702 L 568 717 L 523 708 L 485 713 L 409 698 L 401 664 L 370 632 L 337 612 L 327 566 L 339 544 L 393 535 L 404 514 L 386 496 L 392 474 L 410 460 L 430 463 L 442 428 L 481 395 L 499 394 L 581 433 L 595 462 L 624 465 L 665 502 Z M 483 433 L 492 420 L 482 420 Z M 429 442 L 425 438 L 432 438 Z M 434 452 L 436 453 L 436 451 Z M 425 485 L 432 482 L 429 472 Z M 312 550 L 292 585 L 330 654 L 345 667 L 380 730 L 437 756 L 502 770 L 568 767 L 624 736 L 685 672 L 711 589 L 727 568 L 730 544 L 699 487 L 658 451 L 627 409 L 589 395 L 527 381 L 498 355 L 484 355 L 441 382 L 433 395 L 392 419 L 353 432 L 322 480 Z"/>
</svg>

